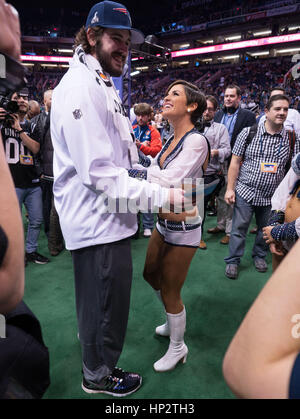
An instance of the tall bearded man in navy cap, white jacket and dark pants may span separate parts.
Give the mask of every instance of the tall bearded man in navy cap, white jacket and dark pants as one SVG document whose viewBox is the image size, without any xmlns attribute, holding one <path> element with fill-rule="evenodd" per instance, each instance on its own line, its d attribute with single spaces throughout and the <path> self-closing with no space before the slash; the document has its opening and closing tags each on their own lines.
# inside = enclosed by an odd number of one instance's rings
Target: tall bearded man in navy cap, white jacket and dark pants
<svg viewBox="0 0 300 419">
<path fill-rule="evenodd" d="M 127 328 L 136 213 L 183 197 L 182 190 L 128 176 L 137 149 L 111 76 L 122 75 L 130 43 L 143 40 L 125 6 L 95 4 L 52 97 L 53 192 L 73 258 L 82 388 L 113 396 L 131 394 L 142 382 L 116 367 Z"/>
</svg>

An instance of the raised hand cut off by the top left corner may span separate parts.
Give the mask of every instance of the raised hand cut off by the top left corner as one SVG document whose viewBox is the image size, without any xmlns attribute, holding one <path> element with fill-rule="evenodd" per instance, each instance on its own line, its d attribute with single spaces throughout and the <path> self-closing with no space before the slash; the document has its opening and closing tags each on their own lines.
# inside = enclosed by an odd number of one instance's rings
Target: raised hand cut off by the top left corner
<svg viewBox="0 0 300 419">
<path fill-rule="evenodd" d="M 5 53 L 20 61 L 21 30 L 17 10 L 4 0 L 0 0 L 0 53 Z"/>
</svg>

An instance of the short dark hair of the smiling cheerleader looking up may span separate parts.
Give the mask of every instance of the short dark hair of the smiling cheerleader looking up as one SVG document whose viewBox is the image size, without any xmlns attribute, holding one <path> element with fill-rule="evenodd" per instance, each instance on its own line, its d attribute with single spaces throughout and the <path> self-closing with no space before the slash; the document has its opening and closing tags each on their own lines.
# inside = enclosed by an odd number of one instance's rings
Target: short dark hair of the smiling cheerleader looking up
<svg viewBox="0 0 300 419">
<path fill-rule="evenodd" d="M 171 83 L 167 88 L 166 94 L 168 94 L 172 87 L 176 86 L 177 84 L 183 85 L 186 95 L 186 104 L 191 105 L 192 103 L 197 103 L 198 105 L 197 108 L 191 113 L 192 124 L 196 125 L 197 121 L 202 117 L 203 112 L 207 108 L 205 96 L 198 86 L 185 80 L 176 80 Z"/>
</svg>

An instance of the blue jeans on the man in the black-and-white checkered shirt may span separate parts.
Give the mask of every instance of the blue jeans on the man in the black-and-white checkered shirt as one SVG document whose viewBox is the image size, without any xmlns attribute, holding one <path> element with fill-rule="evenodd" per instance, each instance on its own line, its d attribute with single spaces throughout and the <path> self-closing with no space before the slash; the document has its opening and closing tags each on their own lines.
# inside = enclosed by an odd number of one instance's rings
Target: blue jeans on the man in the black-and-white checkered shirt
<svg viewBox="0 0 300 419">
<path fill-rule="evenodd" d="M 232 217 L 232 230 L 229 241 L 229 256 L 224 260 L 226 264 L 239 265 L 244 254 L 246 235 L 253 213 L 257 224 L 257 234 L 252 249 L 252 257 L 264 259 L 268 252 L 268 245 L 263 239 L 262 228 L 268 225 L 271 205 L 255 206 L 249 204 L 236 193 Z"/>
</svg>

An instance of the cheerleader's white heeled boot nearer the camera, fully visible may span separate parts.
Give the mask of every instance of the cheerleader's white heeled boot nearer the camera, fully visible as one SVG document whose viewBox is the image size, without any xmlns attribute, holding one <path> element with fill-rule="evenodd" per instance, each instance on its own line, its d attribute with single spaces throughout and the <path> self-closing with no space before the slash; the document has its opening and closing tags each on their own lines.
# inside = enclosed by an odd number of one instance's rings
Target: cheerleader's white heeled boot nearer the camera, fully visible
<svg viewBox="0 0 300 419">
<path fill-rule="evenodd" d="M 178 314 L 167 313 L 170 329 L 170 345 L 165 355 L 153 365 L 155 371 L 164 372 L 172 370 L 179 361 L 186 362 L 188 348 L 184 343 L 186 324 L 185 308 Z"/>
</svg>

